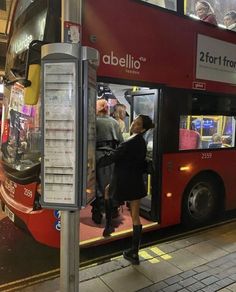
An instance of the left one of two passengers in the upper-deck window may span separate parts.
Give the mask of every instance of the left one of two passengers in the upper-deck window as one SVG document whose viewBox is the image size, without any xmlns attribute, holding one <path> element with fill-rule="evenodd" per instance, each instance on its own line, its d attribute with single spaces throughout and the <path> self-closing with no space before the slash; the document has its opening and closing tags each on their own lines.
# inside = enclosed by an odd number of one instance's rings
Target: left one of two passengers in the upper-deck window
<svg viewBox="0 0 236 292">
<path fill-rule="evenodd" d="M 211 4 L 207 1 L 197 1 L 195 10 L 197 16 L 205 22 L 217 25 L 216 17 L 214 10 L 211 7 Z"/>
</svg>

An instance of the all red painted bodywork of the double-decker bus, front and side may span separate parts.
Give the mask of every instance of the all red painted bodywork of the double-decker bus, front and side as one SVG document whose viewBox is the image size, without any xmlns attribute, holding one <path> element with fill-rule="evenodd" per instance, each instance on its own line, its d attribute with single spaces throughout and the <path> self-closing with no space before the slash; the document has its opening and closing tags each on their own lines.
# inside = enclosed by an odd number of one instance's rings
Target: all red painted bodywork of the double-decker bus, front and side
<svg viewBox="0 0 236 292">
<path fill-rule="evenodd" d="M 236 43 L 235 34 L 131 0 L 85 0 L 83 9 L 82 45 L 99 51 L 98 77 L 101 80 L 125 80 L 127 84 L 137 82 L 152 87 L 164 84 L 184 89 L 192 89 L 193 82 L 200 81 L 206 93 L 236 93 L 236 87 L 231 84 L 196 80 L 195 76 L 198 34 Z M 53 34 L 49 29 L 46 33 Z M 236 207 L 233 193 L 236 180 L 234 172 L 227 169 L 229 163 L 231 169 L 235 169 L 235 150 L 177 151 L 175 148 L 175 153 L 162 155 L 158 228 L 180 222 L 182 195 L 191 179 L 202 171 L 210 170 L 224 181 L 225 207 Z M 179 170 L 181 166 L 189 166 L 190 161 L 189 171 Z M 7 179 L 0 188 L 1 200 L 24 221 L 37 241 L 59 247 L 60 212 L 33 211 L 36 187 L 36 182 L 27 185 L 14 182 L 12 188 Z"/>
</svg>

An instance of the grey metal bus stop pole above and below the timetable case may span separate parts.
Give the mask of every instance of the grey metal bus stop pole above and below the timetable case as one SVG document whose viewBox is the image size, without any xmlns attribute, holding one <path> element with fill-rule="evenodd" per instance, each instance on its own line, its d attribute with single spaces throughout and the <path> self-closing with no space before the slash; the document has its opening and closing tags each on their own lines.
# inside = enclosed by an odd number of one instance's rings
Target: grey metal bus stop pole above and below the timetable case
<svg viewBox="0 0 236 292">
<path fill-rule="evenodd" d="M 82 15 L 81 0 L 62 0 L 61 42 L 72 42 L 68 38 L 68 26 L 80 30 Z M 80 39 L 78 46 L 80 46 Z M 81 77 L 78 77 L 81 81 Z M 76 178 L 75 178 L 76 179 Z M 81 194 L 78 194 L 81 195 Z M 79 209 L 61 211 L 60 243 L 60 291 L 79 291 Z"/>
</svg>

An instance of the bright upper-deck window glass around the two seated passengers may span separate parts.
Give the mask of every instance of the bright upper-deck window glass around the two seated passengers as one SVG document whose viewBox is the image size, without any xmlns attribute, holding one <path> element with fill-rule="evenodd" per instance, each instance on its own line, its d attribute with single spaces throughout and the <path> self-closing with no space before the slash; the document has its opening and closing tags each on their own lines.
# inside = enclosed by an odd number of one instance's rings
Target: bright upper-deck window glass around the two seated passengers
<svg viewBox="0 0 236 292">
<path fill-rule="evenodd" d="M 224 1 L 215 1 L 215 0 L 207 0 L 207 1 L 196 1 L 196 0 L 186 0 L 186 11 L 185 14 L 200 19 L 199 15 L 196 11 L 196 3 L 197 2 L 207 2 L 210 7 L 212 7 L 213 13 L 216 17 L 217 24 L 220 27 L 226 28 L 226 24 L 224 22 L 224 18 L 229 11 L 236 10 L 235 0 L 224 0 Z M 204 21 L 204 20 L 203 20 Z"/>
</svg>

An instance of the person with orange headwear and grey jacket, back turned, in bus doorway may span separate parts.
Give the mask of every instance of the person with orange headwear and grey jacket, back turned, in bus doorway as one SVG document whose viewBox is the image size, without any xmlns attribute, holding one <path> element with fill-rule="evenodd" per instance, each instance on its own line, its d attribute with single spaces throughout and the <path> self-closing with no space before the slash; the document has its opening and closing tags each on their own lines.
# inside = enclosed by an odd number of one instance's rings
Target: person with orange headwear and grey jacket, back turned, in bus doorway
<svg viewBox="0 0 236 292">
<path fill-rule="evenodd" d="M 105 99 L 97 100 L 96 119 L 96 155 L 101 156 L 103 152 L 115 149 L 119 143 L 123 142 L 123 137 L 118 122 L 109 116 L 108 103 Z M 102 213 L 104 211 L 105 187 L 110 182 L 113 166 L 106 166 L 96 169 L 96 198 L 92 202 L 92 220 L 96 224 L 101 224 Z M 105 213 L 109 215 L 113 212 L 118 214 L 118 204 L 111 198 L 105 200 Z"/>
</svg>

